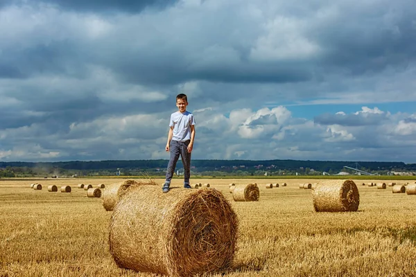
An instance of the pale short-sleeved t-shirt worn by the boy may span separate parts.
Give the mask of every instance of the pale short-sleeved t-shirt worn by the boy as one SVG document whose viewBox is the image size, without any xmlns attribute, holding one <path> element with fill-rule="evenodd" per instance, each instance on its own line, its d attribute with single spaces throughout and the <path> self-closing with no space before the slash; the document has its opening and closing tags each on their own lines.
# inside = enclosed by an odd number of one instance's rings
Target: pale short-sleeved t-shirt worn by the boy
<svg viewBox="0 0 416 277">
<path fill-rule="evenodd" d="M 195 125 L 195 118 L 189 111 L 183 114 L 180 111 L 175 111 L 171 114 L 171 121 L 169 127 L 173 127 L 174 141 L 188 141 L 191 139 L 191 125 Z"/>
</svg>

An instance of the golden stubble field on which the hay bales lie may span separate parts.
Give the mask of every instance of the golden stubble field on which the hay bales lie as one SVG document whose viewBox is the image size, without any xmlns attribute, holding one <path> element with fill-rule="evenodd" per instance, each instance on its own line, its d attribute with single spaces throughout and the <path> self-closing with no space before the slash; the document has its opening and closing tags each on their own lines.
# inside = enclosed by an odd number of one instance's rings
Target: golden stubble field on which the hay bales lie
<svg viewBox="0 0 416 277">
<path fill-rule="evenodd" d="M 102 199 L 76 188 L 118 181 L 123 180 L 39 179 L 42 190 L 33 190 L 33 180 L 0 180 L 0 276 L 157 276 L 115 265 L 108 246 L 112 212 Z M 210 276 L 416 276 L 416 195 L 354 180 L 357 212 L 316 213 L 312 190 L 299 184 L 318 181 L 194 180 L 223 192 L 240 222 L 232 269 Z M 234 202 L 231 182 L 257 183 L 260 201 Z M 287 186 L 266 189 L 268 183 Z M 69 185 L 72 192 L 49 193 L 52 184 Z M 172 186 L 182 186 L 182 180 Z"/>
</svg>

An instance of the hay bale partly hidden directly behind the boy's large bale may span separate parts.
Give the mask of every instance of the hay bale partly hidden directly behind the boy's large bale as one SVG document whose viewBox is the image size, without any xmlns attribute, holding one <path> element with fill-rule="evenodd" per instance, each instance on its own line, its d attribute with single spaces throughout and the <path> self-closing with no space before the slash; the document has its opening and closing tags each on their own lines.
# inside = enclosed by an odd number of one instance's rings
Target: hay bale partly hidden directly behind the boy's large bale
<svg viewBox="0 0 416 277">
<path fill-rule="evenodd" d="M 120 197 L 122 197 L 127 189 L 130 186 L 141 186 L 141 185 L 153 185 L 155 186 L 156 183 L 151 180 L 146 181 L 135 181 L 135 180 L 126 180 L 116 184 L 110 184 L 103 192 L 103 206 L 105 211 L 112 211 L 114 206 L 116 206 L 117 202 L 119 201 Z M 159 186 L 157 186 L 159 188 Z M 160 191 L 162 189 L 159 188 Z"/>
</svg>

